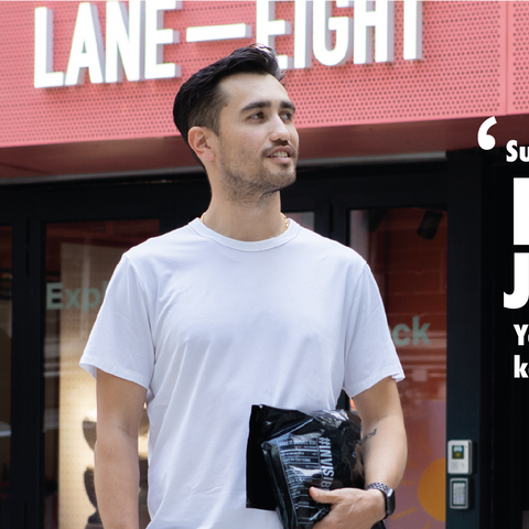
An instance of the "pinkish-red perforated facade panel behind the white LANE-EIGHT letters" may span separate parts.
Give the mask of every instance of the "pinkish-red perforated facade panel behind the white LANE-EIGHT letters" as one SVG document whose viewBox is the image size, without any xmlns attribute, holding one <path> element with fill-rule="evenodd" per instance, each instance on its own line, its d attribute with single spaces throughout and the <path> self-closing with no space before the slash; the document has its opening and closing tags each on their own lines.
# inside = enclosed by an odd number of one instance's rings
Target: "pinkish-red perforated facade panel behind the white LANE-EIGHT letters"
<svg viewBox="0 0 529 529">
<path fill-rule="evenodd" d="M 0 2 L 0 147 L 168 137 L 176 134 L 171 108 L 183 79 L 253 39 L 185 42 L 193 25 L 246 22 L 253 26 L 252 1 L 184 0 L 168 11 L 164 28 L 181 44 L 164 46 L 164 61 L 182 66 L 182 79 L 34 88 L 34 9 L 54 10 L 54 69 L 66 71 L 79 2 Z M 105 2 L 97 4 L 105 33 Z M 334 9 L 354 15 L 354 9 Z M 396 2 L 396 61 L 391 64 L 313 67 L 291 71 L 288 89 L 300 128 L 423 121 L 523 114 L 529 108 L 529 2 L 425 1 L 423 60 L 402 58 L 402 2 Z M 276 19 L 294 22 L 292 1 L 278 2 Z M 294 25 L 295 31 L 295 25 Z M 277 37 L 292 55 L 293 36 Z"/>
</svg>

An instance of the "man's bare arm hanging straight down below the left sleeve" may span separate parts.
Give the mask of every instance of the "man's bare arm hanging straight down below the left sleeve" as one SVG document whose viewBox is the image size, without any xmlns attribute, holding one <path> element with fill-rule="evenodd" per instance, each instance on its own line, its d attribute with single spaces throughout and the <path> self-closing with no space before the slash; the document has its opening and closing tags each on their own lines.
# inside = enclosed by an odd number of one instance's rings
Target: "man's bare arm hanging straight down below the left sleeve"
<svg viewBox="0 0 529 529">
<path fill-rule="evenodd" d="M 138 529 L 138 429 L 145 388 L 97 371 L 95 482 L 105 529 Z"/>
</svg>

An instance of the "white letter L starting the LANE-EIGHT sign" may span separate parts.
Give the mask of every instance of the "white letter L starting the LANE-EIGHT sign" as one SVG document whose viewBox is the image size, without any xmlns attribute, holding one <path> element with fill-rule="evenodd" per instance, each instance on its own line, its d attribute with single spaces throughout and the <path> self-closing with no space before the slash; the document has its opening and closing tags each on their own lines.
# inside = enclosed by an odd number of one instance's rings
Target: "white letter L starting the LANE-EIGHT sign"
<svg viewBox="0 0 529 529">
<path fill-rule="evenodd" d="M 53 11 L 35 9 L 35 71 L 34 87 L 64 85 L 64 74 L 53 71 Z"/>
</svg>

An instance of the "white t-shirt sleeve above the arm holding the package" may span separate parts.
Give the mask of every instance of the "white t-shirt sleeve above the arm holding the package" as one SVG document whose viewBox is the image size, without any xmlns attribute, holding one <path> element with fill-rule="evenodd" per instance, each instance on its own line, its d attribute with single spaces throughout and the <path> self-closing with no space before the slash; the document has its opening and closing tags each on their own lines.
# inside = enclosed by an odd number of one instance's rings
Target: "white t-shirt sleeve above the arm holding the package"
<svg viewBox="0 0 529 529">
<path fill-rule="evenodd" d="M 344 389 L 355 397 L 384 378 L 400 381 L 404 374 L 391 339 L 378 285 L 367 263 L 350 292 Z"/>
</svg>

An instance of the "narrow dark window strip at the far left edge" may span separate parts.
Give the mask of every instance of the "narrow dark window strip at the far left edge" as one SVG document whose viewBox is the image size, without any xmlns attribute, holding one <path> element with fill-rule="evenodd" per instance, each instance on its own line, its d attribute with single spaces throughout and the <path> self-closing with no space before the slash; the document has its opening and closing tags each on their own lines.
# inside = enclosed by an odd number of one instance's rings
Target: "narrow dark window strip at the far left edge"
<svg viewBox="0 0 529 529">
<path fill-rule="evenodd" d="M 0 226 L 0 527 L 9 520 L 11 500 L 11 321 L 12 228 Z"/>
</svg>

